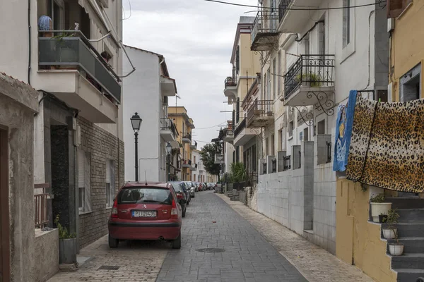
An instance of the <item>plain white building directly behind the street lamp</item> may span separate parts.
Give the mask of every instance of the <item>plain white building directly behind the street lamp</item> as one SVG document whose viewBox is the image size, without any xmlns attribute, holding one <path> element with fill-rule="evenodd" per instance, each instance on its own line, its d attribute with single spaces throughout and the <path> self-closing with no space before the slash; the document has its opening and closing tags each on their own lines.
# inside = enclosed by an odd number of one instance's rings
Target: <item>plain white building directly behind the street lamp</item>
<svg viewBox="0 0 424 282">
<path fill-rule="evenodd" d="M 136 67 L 133 75 L 124 79 L 125 180 L 136 179 L 135 137 L 130 118 L 138 113 L 143 120 L 138 137 L 139 180 L 147 177 L 148 181 L 167 181 L 168 142 L 172 149 L 179 149 L 178 132 L 167 116 L 168 97 L 177 94 L 175 80 L 169 78 L 162 55 L 129 46 L 125 49 Z M 124 63 L 124 69 L 130 67 Z"/>
</svg>

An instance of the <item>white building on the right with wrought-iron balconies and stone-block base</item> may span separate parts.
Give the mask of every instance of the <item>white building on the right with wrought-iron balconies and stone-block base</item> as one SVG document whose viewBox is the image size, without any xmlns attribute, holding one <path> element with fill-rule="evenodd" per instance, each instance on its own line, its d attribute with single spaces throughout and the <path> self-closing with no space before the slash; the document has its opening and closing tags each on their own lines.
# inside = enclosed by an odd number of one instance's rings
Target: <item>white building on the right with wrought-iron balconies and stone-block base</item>
<svg viewBox="0 0 424 282">
<path fill-rule="evenodd" d="M 258 13 L 252 32 L 262 99 L 273 102 L 274 116 L 261 126 L 255 209 L 333 254 L 337 106 L 351 90 L 387 99 L 387 12 L 378 4 L 355 8 L 363 4 L 370 3 L 265 0 L 271 9 Z"/>
</svg>

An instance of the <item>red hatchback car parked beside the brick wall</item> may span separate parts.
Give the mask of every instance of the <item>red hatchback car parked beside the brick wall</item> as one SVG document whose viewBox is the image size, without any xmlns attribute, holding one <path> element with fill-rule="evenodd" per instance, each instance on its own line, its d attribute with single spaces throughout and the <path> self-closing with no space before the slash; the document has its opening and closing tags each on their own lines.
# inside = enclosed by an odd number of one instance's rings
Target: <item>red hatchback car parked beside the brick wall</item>
<svg viewBox="0 0 424 282">
<path fill-rule="evenodd" d="M 167 240 L 181 247 L 182 210 L 170 183 L 126 183 L 115 197 L 107 224 L 109 247 L 119 240 Z"/>
</svg>

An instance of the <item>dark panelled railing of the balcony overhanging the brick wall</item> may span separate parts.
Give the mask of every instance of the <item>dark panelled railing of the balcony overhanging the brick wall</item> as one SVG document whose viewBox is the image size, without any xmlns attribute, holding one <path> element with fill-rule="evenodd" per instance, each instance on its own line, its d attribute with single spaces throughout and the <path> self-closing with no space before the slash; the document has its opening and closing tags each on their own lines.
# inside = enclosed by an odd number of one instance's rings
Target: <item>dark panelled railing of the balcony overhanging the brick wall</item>
<svg viewBox="0 0 424 282">
<path fill-rule="evenodd" d="M 38 38 L 38 65 L 41 68 L 76 68 L 98 90 L 105 90 L 121 102 L 119 77 L 79 30 L 49 30 L 55 37 Z M 84 74 L 81 72 L 81 75 Z"/>
</svg>

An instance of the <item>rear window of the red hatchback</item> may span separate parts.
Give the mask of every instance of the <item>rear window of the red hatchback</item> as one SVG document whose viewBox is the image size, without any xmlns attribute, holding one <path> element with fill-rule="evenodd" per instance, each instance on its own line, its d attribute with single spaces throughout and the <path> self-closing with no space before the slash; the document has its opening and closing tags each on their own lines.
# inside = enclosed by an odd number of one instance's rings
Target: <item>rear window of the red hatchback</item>
<svg viewBox="0 0 424 282">
<path fill-rule="evenodd" d="M 122 189 L 117 200 L 118 204 L 172 204 L 172 194 L 167 188 L 131 187 Z"/>
</svg>

